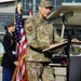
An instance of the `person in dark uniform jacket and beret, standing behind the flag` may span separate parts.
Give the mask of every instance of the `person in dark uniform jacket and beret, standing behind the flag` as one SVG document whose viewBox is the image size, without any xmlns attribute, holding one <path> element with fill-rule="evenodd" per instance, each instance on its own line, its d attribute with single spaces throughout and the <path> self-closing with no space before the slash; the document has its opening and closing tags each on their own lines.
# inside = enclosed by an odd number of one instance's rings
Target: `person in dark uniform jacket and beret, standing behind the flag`
<svg viewBox="0 0 81 81">
<path fill-rule="evenodd" d="M 16 43 L 13 38 L 15 26 L 13 21 L 8 21 L 4 25 L 5 35 L 3 37 L 4 53 L 2 57 L 2 81 L 11 81 L 15 66 L 19 66 L 16 59 Z"/>
</svg>

